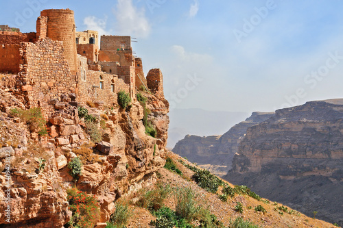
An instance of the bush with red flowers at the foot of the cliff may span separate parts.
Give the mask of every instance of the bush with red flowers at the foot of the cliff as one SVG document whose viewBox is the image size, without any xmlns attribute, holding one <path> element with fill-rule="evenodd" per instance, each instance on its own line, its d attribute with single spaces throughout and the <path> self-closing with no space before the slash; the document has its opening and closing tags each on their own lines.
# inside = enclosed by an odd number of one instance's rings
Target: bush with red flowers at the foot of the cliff
<svg viewBox="0 0 343 228">
<path fill-rule="evenodd" d="M 69 210 L 73 212 L 67 227 L 93 228 L 99 219 L 99 204 L 92 195 L 76 188 L 67 190 Z"/>
</svg>

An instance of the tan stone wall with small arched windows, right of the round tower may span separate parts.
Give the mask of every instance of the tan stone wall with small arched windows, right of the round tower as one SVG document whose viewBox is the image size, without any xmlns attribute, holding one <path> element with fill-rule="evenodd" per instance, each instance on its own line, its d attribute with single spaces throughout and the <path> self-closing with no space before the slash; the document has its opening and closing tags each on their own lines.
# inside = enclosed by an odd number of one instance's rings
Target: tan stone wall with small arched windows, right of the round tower
<svg viewBox="0 0 343 228">
<path fill-rule="evenodd" d="M 87 68 L 85 59 L 80 57 L 80 69 L 85 70 Z M 100 82 L 102 82 L 102 88 L 100 88 Z M 85 70 L 84 77 L 78 79 L 78 101 L 82 104 L 85 104 L 86 101 L 102 101 L 104 105 L 112 106 L 117 104 L 117 92 L 120 90 L 129 92 L 129 88 L 117 75 Z"/>
</svg>

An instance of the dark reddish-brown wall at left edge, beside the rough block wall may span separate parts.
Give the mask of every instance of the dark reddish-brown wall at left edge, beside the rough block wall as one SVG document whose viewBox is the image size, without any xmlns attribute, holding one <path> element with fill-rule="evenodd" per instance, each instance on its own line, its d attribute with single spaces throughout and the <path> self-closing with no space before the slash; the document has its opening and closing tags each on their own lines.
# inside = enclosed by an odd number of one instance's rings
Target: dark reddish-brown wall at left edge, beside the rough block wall
<svg viewBox="0 0 343 228">
<path fill-rule="evenodd" d="M 19 73 L 20 45 L 0 45 L 0 72 Z"/>
</svg>

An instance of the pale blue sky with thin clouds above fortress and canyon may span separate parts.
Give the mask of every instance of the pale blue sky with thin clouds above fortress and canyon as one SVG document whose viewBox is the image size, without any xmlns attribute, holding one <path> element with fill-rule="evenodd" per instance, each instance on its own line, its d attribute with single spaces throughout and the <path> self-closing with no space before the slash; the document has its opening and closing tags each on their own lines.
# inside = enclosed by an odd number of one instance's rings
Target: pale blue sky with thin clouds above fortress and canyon
<svg viewBox="0 0 343 228">
<path fill-rule="evenodd" d="M 78 31 L 137 38 L 145 74 L 161 68 L 173 108 L 272 111 L 343 97 L 339 0 L 12 0 L 1 8 L 0 24 L 24 32 L 36 30 L 40 10 L 70 8 Z"/>
</svg>

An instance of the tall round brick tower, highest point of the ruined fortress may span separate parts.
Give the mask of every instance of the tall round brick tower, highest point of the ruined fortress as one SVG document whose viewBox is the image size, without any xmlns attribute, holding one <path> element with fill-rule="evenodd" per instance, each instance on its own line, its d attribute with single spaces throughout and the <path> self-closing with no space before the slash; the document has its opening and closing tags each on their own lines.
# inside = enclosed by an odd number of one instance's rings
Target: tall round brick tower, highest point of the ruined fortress
<svg viewBox="0 0 343 228">
<path fill-rule="evenodd" d="M 64 58 L 69 62 L 72 75 L 78 72 L 73 10 L 43 10 L 40 16 L 47 17 L 47 37 L 63 41 Z M 38 32 L 38 31 L 37 31 Z"/>
</svg>

